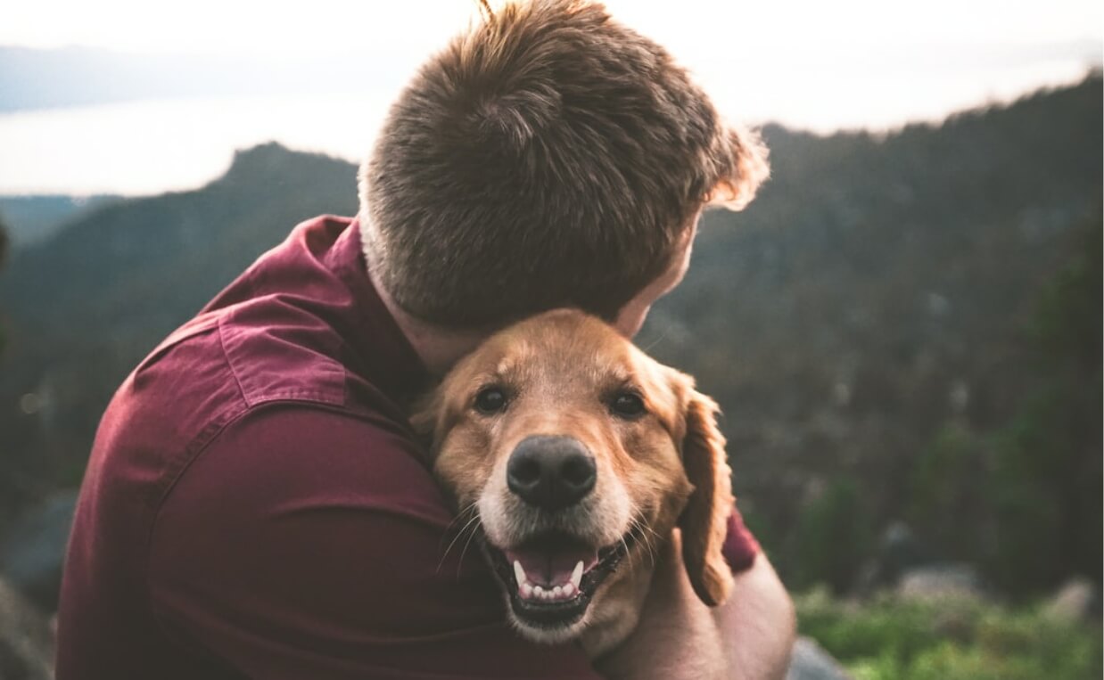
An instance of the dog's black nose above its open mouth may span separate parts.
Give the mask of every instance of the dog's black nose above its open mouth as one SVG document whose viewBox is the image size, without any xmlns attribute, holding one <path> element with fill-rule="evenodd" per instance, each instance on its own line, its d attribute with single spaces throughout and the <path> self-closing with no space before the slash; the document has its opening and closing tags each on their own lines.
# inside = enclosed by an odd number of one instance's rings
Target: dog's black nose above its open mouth
<svg viewBox="0 0 1104 680">
<path fill-rule="evenodd" d="M 530 506 L 559 510 L 591 492 L 597 468 L 577 439 L 537 435 L 522 439 L 510 454 L 506 479 L 510 490 Z"/>
</svg>

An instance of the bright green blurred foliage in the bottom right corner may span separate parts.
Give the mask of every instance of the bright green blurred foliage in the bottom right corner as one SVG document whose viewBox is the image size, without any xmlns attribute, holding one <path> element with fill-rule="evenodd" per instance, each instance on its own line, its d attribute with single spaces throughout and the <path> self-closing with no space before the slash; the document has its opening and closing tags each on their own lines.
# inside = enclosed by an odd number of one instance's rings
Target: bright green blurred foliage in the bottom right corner
<svg viewBox="0 0 1104 680">
<path fill-rule="evenodd" d="M 1095 680 L 1098 624 L 981 601 L 796 598 L 798 628 L 857 680 Z"/>
</svg>

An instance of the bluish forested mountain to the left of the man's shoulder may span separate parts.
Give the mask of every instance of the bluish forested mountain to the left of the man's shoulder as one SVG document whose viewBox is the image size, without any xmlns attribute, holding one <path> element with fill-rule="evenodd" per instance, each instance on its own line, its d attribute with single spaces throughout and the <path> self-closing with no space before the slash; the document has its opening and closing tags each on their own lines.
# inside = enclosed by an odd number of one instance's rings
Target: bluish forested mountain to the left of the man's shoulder
<svg viewBox="0 0 1104 680">
<path fill-rule="evenodd" d="M 163 336 L 296 223 L 355 209 L 352 164 L 269 144 L 202 189 L 104 205 L 12 253 L 0 272 L 0 518 L 78 481 L 107 400 Z"/>
</svg>

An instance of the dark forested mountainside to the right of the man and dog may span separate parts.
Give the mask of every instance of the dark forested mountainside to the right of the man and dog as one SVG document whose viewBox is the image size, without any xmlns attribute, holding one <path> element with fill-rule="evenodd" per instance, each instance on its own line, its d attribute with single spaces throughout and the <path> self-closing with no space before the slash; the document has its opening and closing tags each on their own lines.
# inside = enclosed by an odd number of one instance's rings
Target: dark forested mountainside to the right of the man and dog
<svg viewBox="0 0 1104 680">
<path fill-rule="evenodd" d="M 893 519 L 1013 591 L 1101 573 L 1101 94 L 884 137 L 767 128 L 769 183 L 703 223 L 641 344 L 718 397 L 795 585 L 847 588 Z M 1048 351 L 1048 323 L 1078 341 Z"/>
</svg>

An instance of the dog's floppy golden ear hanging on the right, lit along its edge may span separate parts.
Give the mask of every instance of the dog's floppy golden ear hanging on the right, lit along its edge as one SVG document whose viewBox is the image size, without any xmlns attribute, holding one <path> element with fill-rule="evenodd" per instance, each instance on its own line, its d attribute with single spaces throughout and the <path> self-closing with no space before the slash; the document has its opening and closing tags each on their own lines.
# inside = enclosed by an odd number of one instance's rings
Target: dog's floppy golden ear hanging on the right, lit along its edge
<svg viewBox="0 0 1104 680">
<path fill-rule="evenodd" d="M 713 400 L 689 391 L 682 465 L 694 490 L 679 518 L 690 584 L 711 607 L 724 602 L 733 585 L 732 570 L 721 552 L 734 499 L 724 435 L 716 427 L 718 411 Z"/>
</svg>

